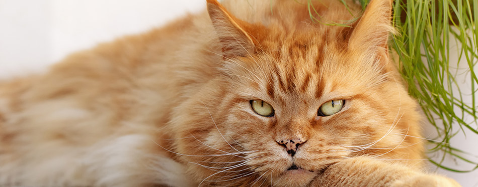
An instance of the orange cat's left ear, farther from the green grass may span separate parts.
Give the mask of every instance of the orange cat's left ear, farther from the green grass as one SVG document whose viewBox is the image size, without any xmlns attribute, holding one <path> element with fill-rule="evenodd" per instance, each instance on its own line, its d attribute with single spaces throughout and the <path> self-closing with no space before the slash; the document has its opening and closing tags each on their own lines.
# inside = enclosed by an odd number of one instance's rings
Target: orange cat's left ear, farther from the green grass
<svg viewBox="0 0 478 187">
<path fill-rule="evenodd" d="M 254 42 L 244 30 L 247 23 L 232 16 L 216 0 L 207 0 L 207 12 L 225 58 L 244 57 L 254 53 Z"/>
</svg>

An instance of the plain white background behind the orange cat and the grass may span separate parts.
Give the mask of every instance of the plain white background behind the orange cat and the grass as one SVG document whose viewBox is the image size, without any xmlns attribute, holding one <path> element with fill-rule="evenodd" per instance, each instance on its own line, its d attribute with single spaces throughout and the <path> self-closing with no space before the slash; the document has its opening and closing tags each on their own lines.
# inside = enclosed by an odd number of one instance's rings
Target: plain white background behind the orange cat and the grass
<svg viewBox="0 0 478 187">
<path fill-rule="evenodd" d="M 0 79 L 44 71 L 71 52 L 160 27 L 204 7 L 205 0 L 0 0 Z M 429 134 L 433 129 L 426 130 Z M 458 134 L 452 145 L 478 155 L 478 136 L 467 135 Z M 453 159 L 445 164 L 471 168 Z M 463 186 L 478 186 L 478 171 L 437 172 Z"/>
</svg>

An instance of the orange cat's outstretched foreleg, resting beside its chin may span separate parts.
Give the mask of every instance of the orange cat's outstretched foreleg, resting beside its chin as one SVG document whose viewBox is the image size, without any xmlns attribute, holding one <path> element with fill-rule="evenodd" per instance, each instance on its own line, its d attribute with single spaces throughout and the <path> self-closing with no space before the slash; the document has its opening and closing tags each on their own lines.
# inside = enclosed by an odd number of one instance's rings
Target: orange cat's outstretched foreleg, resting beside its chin
<svg viewBox="0 0 478 187">
<path fill-rule="evenodd" d="M 365 156 L 331 165 L 311 186 L 460 186 L 453 179 Z"/>
</svg>

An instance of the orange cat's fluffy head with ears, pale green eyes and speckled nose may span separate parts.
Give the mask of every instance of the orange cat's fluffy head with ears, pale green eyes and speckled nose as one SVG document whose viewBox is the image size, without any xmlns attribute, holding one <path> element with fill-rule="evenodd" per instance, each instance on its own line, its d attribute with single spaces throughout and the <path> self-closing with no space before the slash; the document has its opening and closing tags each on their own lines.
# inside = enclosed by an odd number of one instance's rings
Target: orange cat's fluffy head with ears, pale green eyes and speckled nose
<svg viewBox="0 0 478 187">
<path fill-rule="evenodd" d="M 313 23 L 295 1 L 271 5 L 264 23 L 207 2 L 220 73 L 172 120 L 199 182 L 304 186 L 350 157 L 420 157 L 416 103 L 387 48 L 391 1 L 371 1 L 350 27 Z M 335 4 L 312 6 L 323 21 L 353 19 Z"/>
</svg>

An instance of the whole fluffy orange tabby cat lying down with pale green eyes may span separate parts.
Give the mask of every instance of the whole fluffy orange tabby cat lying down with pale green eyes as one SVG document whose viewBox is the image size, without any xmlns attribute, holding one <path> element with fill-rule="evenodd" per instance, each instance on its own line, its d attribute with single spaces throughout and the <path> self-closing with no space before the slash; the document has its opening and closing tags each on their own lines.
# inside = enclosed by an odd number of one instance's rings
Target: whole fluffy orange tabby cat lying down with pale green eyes
<svg viewBox="0 0 478 187">
<path fill-rule="evenodd" d="M 207 0 L 4 80 L 0 186 L 459 186 L 424 171 L 391 3 Z"/>
</svg>

